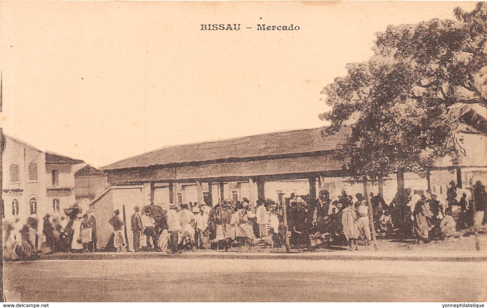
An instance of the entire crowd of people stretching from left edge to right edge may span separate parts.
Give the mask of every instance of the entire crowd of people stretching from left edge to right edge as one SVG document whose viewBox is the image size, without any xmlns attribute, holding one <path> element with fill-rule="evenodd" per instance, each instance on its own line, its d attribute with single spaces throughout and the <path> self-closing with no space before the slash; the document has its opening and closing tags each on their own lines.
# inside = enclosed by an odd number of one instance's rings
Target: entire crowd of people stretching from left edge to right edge
<svg viewBox="0 0 487 308">
<path fill-rule="evenodd" d="M 485 231 L 487 193 L 481 181 L 471 190 L 459 189 L 451 182 L 446 196 L 446 204 L 442 204 L 435 194 L 406 189 L 403 198 L 407 205 L 401 207 L 398 194 L 387 204 L 380 194 L 370 193 L 366 198 L 362 193 L 349 195 L 345 190 L 332 201 L 330 193 L 321 190 L 316 198 L 292 193 L 280 203 L 258 200 L 255 209 L 246 198 L 225 200 L 215 206 L 191 202 L 170 205 L 169 210 L 156 205 L 135 207 L 130 219 L 132 247 L 134 251 L 169 253 L 242 246 L 250 249 L 255 245 L 274 248 L 289 245 L 289 248 L 310 251 L 346 245 L 357 250 L 357 241 L 370 245 L 372 234 L 425 243 L 431 239 L 459 237 L 461 230 L 473 230 L 474 226 L 478 231 Z M 65 210 L 65 214 L 44 216 L 41 226 L 45 241 L 40 250 L 45 253 L 96 251 L 94 214 L 82 213 L 76 206 Z M 110 220 L 102 223 L 112 226 L 112 236 L 101 250 L 128 250 L 120 212 L 114 211 Z M 29 217 L 25 224 L 18 219 L 7 224 L 5 258 L 36 257 L 37 228 L 35 217 Z M 145 245 L 141 245 L 141 238 L 145 239 L 142 243 Z"/>
</svg>

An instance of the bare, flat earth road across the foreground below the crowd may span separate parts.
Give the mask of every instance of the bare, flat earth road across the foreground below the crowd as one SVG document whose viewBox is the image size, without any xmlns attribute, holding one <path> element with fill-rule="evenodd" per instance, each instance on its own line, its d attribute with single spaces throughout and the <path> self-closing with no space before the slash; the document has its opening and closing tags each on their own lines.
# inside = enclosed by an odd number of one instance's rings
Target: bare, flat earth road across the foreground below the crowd
<svg viewBox="0 0 487 308">
<path fill-rule="evenodd" d="M 7 262 L 7 301 L 477 302 L 483 262 L 149 259 Z"/>
</svg>

